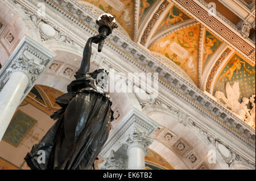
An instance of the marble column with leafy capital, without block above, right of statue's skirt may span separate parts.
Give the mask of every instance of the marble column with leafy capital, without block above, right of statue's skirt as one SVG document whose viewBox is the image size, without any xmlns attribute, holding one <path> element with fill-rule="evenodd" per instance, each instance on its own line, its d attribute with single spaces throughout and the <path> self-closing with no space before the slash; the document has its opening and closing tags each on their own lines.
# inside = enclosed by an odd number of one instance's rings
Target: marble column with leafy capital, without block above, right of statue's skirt
<svg viewBox="0 0 256 181">
<path fill-rule="evenodd" d="M 131 134 L 127 134 L 127 138 L 122 142 L 123 147 L 127 149 L 128 170 L 144 170 L 145 156 L 148 146 L 153 142 L 154 138 L 147 136 L 145 132 L 138 131 L 133 128 Z"/>
</svg>

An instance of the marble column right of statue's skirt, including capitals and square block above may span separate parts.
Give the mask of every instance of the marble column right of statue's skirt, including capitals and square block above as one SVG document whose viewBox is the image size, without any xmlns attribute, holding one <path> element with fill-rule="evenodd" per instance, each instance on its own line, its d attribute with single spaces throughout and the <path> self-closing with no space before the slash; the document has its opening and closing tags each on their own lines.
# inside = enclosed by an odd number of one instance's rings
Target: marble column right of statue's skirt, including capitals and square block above
<svg viewBox="0 0 256 181">
<path fill-rule="evenodd" d="M 110 132 L 100 152 L 100 169 L 145 169 L 146 151 L 154 140 L 149 137 L 158 124 L 136 108 L 131 108 Z"/>
</svg>

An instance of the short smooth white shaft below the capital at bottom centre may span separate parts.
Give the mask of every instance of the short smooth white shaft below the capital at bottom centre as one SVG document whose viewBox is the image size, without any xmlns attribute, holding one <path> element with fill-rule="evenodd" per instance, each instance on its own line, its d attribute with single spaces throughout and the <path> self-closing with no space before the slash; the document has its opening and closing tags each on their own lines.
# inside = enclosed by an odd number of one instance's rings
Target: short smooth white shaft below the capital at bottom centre
<svg viewBox="0 0 256 181">
<path fill-rule="evenodd" d="M 128 151 L 128 170 L 145 170 L 145 151 L 141 146 L 132 146 Z"/>
</svg>

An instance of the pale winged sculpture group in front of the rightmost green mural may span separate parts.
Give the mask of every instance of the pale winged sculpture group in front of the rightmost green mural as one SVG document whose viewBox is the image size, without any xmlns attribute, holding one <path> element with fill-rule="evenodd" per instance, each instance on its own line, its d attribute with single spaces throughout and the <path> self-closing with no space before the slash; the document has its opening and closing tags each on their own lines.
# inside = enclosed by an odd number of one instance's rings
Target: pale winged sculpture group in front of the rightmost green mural
<svg viewBox="0 0 256 181">
<path fill-rule="evenodd" d="M 240 88 L 238 82 L 234 82 L 233 86 L 230 86 L 230 83 L 227 82 L 225 92 L 226 96 L 224 92 L 221 91 L 216 91 L 214 96 L 219 102 L 222 100 L 225 103 L 224 106 L 236 113 L 241 120 L 255 128 L 255 95 L 251 96 L 250 99 L 243 97 L 242 102 L 240 103 Z M 249 102 L 254 107 L 251 110 L 247 108 L 247 104 L 249 104 Z"/>
</svg>

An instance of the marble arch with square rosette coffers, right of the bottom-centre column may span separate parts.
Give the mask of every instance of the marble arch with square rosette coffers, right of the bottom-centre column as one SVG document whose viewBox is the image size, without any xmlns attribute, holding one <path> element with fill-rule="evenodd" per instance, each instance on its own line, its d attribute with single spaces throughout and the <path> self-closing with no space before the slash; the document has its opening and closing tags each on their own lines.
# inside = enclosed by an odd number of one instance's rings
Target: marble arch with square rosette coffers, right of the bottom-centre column
<svg viewBox="0 0 256 181">
<path fill-rule="evenodd" d="M 180 113 L 156 104 L 145 106 L 142 111 L 159 124 L 152 133 L 155 141 L 150 149 L 166 159 L 174 169 L 229 169 L 221 154 L 207 138 L 180 122 Z M 217 153 L 215 164 L 208 163 L 210 150 Z"/>
</svg>

